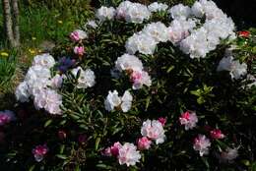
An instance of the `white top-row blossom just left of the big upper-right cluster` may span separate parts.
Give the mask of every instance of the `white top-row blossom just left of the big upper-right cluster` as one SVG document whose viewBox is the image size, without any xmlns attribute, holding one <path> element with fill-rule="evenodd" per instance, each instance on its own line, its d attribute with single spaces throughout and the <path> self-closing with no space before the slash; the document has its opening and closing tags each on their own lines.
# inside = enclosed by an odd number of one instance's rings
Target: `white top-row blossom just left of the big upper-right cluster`
<svg viewBox="0 0 256 171">
<path fill-rule="evenodd" d="M 178 4 L 169 9 L 172 19 L 187 19 L 191 14 L 191 9 L 183 4 Z"/>
</svg>

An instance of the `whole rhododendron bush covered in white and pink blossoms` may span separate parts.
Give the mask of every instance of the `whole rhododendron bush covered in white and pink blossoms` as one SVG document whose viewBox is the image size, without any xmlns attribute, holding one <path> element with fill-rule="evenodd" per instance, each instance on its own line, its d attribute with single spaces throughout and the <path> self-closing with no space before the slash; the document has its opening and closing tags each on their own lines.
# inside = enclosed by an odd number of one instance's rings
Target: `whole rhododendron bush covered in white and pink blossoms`
<svg viewBox="0 0 256 171">
<path fill-rule="evenodd" d="M 240 47 L 253 38 L 213 1 L 102 6 L 33 58 L 16 97 L 36 110 L 20 120 L 0 113 L 0 125 L 21 128 L 7 161 L 34 170 L 246 168 L 237 161 L 252 160 L 250 138 L 237 128 L 252 122 L 256 79 Z"/>
</svg>

